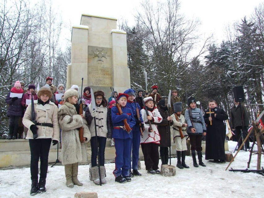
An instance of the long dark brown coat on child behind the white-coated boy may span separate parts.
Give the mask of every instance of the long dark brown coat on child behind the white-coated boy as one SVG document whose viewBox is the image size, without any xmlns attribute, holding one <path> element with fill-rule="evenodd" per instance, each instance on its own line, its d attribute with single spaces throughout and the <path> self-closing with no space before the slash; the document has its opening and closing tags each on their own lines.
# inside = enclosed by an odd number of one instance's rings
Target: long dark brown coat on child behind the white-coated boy
<svg viewBox="0 0 264 198">
<path fill-rule="evenodd" d="M 162 121 L 160 123 L 156 123 L 158 131 L 161 136 L 160 147 L 169 147 L 169 121 L 167 120 L 169 116 L 169 112 L 164 109 L 158 108 Z"/>
</svg>

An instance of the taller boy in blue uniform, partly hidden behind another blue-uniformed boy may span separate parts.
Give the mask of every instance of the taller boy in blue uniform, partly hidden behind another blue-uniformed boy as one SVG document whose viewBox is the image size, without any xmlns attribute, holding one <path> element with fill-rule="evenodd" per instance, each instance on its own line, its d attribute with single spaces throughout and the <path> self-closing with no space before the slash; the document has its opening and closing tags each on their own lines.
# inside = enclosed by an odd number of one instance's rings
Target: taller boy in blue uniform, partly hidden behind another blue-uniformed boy
<svg viewBox="0 0 264 198">
<path fill-rule="evenodd" d="M 133 173 L 131 172 L 131 163 L 130 163 L 130 177 L 133 177 L 134 175 L 136 176 L 141 176 L 141 174 L 138 171 L 138 162 L 139 162 L 139 145 L 140 145 L 140 129 L 139 129 L 139 124 L 141 123 L 141 128 L 142 131 L 144 131 L 144 122 L 140 113 L 140 106 L 138 103 L 134 102 L 135 99 L 135 92 L 133 89 L 127 89 L 124 91 L 125 94 L 129 95 L 126 103 L 126 107 L 130 108 L 133 112 L 134 119 L 136 121 L 136 125 L 133 127 L 132 133 L 133 133 L 133 138 L 132 138 L 132 145 L 131 145 L 131 150 L 132 150 L 132 169 Z M 139 108 L 139 119 L 137 117 L 137 110 L 136 107 Z"/>
</svg>

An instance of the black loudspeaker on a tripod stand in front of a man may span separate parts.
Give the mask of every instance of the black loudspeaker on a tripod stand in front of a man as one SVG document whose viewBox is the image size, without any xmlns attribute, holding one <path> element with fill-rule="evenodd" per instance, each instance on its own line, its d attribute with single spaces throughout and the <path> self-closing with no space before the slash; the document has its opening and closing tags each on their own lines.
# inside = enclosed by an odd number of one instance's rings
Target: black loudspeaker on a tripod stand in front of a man
<svg viewBox="0 0 264 198">
<path fill-rule="evenodd" d="M 238 147 L 240 146 L 239 145 L 239 142 L 240 141 L 244 141 L 244 137 L 246 137 L 247 135 L 247 131 L 245 129 L 245 121 L 244 121 L 244 117 L 243 117 L 243 112 L 244 110 L 242 111 L 242 106 L 241 106 L 241 103 L 240 102 L 244 102 L 245 101 L 245 94 L 244 94 L 244 89 L 243 89 L 243 86 L 235 86 L 233 88 L 233 93 L 234 93 L 234 98 L 235 98 L 235 102 L 239 102 L 239 106 L 240 106 L 240 115 L 241 115 L 241 121 L 242 121 L 242 130 L 241 130 L 241 135 L 240 135 L 240 138 L 238 139 L 238 137 L 236 137 L 237 139 L 237 145 L 235 147 L 235 150 L 238 149 Z M 247 148 L 247 145 L 246 143 L 244 143 L 244 147 L 243 147 L 243 150 L 244 151 L 248 151 L 249 148 Z M 235 152 L 235 151 L 234 151 Z"/>
</svg>

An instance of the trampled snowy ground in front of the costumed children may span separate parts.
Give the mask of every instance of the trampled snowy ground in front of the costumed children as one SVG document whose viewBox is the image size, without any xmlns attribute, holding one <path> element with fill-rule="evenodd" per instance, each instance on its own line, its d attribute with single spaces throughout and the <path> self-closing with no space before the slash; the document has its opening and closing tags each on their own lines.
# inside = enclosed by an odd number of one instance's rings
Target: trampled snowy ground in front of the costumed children
<svg viewBox="0 0 264 198">
<path fill-rule="evenodd" d="M 229 141 L 230 151 L 234 150 L 236 142 Z M 235 155 L 235 153 L 233 154 Z M 240 151 L 230 167 L 246 169 L 249 152 Z M 263 156 L 262 164 L 263 166 Z M 177 159 L 172 158 L 171 164 L 176 166 Z M 241 173 L 225 171 L 228 163 L 220 164 L 204 160 L 206 167 L 195 168 L 192 159 L 186 156 L 189 169 L 178 169 L 176 176 L 164 177 L 159 174 L 147 174 L 144 161 L 141 161 L 141 177 L 133 177 L 131 182 L 120 184 L 115 182 L 112 174 L 115 164 L 105 165 L 107 184 L 96 186 L 89 180 L 89 166 L 79 165 L 79 180 L 82 187 L 66 187 L 64 166 L 50 167 L 47 174 L 46 193 L 37 194 L 42 197 L 74 197 L 79 191 L 95 191 L 99 198 L 103 197 L 264 197 L 263 176 L 257 173 Z M 161 164 L 161 161 L 160 161 Z M 250 169 L 256 169 L 257 156 L 252 156 Z M 230 169 L 229 167 L 229 169 Z M 32 197 L 30 191 L 30 168 L 15 168 L 0 170 L 0 197 Z"/>
</svg>

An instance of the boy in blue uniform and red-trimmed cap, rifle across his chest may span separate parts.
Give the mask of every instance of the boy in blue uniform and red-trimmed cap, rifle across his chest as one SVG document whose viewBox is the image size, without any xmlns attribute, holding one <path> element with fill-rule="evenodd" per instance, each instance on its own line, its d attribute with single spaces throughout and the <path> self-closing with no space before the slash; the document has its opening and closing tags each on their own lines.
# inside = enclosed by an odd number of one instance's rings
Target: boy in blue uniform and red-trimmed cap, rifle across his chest
<svg viewBox="0 0 264 198">
<path fill-rule="evenodd" d="M 116 158 L 115 164 L 116 169 L 113 171 L 115 175 L 115 181 L 119 183 L 130 182 L 129 168 L 130 168 L 130 157 L 131 157 L 131 144 L 132 144 L 132 132 L 128 133 L 125 130 L 124 120 L 127 120 L 130 128 L 132 129 L 136 122 L 134 121 L 133 112 L 130 108 L 126 107 L 128 95 L 120 93 L 117 96 L 118 104 L 120 105 L 122 114 L 118 112 L 117 107 L 112 107 L 112 124 L 113 134 L 112 138 L 115 141 Z"/>
</svg>

